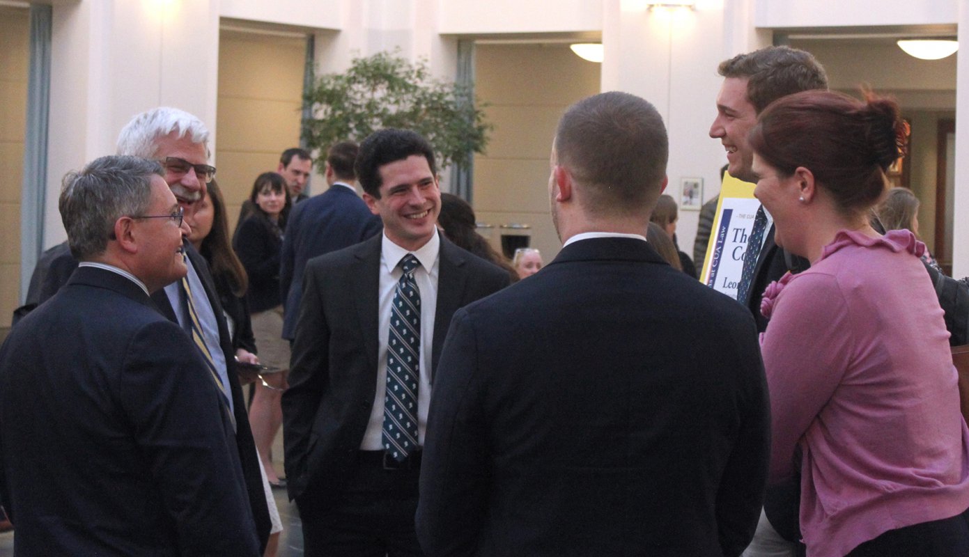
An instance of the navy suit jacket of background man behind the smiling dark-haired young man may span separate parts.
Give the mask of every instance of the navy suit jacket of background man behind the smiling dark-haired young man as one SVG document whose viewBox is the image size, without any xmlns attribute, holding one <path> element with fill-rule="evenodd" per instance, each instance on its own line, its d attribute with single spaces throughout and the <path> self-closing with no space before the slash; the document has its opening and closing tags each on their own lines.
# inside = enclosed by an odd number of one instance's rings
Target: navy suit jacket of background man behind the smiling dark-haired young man
<svg viewBox="0 0 969 557">
<path fill-rule="evenodd" d="M 296 336 L 299 300 L 306 262 L 359 243 L 383 230 L 380 217 L 346 186 L 333 184 L 323 194 L 293 208 L 283 238 L 279 289 L 282 294 L 283 338 Z"/>
</svg>

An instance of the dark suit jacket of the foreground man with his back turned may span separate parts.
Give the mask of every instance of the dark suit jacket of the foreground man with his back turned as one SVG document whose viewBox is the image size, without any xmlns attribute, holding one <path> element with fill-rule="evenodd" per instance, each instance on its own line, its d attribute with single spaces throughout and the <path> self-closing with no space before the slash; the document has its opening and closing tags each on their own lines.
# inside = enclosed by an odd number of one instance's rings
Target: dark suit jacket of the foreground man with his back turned
<svg viewBox="0 0 969 557">
<path fill-rule="evenodd" d="M 428 556 L 739 555 L 769 422 L 740 304 L 641 240 L 579 240 L 454 314 L 418 537 Z"/>
</svg>

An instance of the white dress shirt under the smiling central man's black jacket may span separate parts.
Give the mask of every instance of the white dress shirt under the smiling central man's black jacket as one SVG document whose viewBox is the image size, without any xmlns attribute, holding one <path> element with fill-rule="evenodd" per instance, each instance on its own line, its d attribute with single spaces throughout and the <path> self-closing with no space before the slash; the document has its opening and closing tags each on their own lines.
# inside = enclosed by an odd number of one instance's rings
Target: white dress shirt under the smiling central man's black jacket
<svg viewBox="0 0 969 557">
<path fill-rule="evenodd" d="M 404 274 L 398 266 L 400 260 L 413 253 L 421 266 L 414 270 L 414 281 L 421 291 L 421 357 L 419 359 L 421 379 L 418 382 L 418 444 L 423 445 L 424 431 L 427 428 L 427 408 L 430 406 L 430 360 L 431 347 L 434 346 L 434 313 L 437 311 L 437 277 L 441 238 L 434 234 L 421 249 L 408 252 L 393 243 L 384 234 L 380 252 L 380 292 L 378 297 L 377 328 L 380 352 L 377 353 L 377 391 L 373 398 L 370 422 L 363 434 L 361 450 L 384 449 L 384 399 L 387 396 L 387 343 L 391 336 L 391 304 L 397 281 Z"/>
</svg>

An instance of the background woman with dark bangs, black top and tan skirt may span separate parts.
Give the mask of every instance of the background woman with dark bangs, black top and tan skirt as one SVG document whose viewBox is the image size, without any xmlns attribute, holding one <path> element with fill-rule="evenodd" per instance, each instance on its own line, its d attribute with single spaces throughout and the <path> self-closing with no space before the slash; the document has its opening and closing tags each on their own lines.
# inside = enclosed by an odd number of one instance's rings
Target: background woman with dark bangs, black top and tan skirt
<svg viewBox="0 0 969 557">
<path fill-rule="evenodd" d="M 259 382 L 249 409 L 252 436 L 259 449 L 269 483 L 282 487 L 283 483 L 272 466 L 272 441 L 283 422 L 280 405 L 286 388 L 286 370 L 290 367 L 290 346 L 282 338 L 283 306 L 279 294 L 279 263 L 283 246 L 283 230 L 292 201 L 283 176 L 276 172 L 260 174 L 249 194 L 255 211 L 235 232 L 233 247 L 249 275 L 246 293 L 252 309 L 252 327 L 268 366 L 283 371 L 266 376 L 268 387 Z"/>
</svg>

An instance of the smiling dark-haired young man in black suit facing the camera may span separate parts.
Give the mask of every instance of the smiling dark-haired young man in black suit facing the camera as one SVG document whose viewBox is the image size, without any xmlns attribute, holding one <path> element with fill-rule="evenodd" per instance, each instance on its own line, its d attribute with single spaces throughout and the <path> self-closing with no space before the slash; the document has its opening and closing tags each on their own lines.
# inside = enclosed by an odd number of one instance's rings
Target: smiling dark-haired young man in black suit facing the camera
<svg viewBox="0 0 969 557">
<path fill-rule="evenodd" d="M 425 139 L 382 130 L 357 159 L 384 233 L 306 265 L 283 434 L 290 497 L 315 555 L 420 555 L 426 410 L 457 308 L 509 283 L 454 246 Z"/>
</svg>

